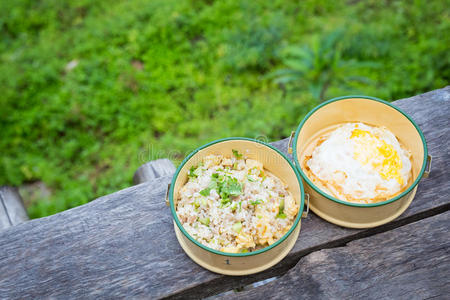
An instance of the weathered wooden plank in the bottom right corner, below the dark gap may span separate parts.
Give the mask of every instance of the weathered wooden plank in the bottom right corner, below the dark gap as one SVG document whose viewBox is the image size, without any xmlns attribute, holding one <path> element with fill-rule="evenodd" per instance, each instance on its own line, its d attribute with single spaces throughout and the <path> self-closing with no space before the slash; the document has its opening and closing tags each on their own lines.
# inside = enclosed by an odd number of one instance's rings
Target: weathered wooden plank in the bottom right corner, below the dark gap
<svg viewBox="0 0 450 300">
<path fill-rule="evenodd" d="M 313 252 L 281 278 L 223 299 L 444 299 L 450 212 Z"/>
</svg>

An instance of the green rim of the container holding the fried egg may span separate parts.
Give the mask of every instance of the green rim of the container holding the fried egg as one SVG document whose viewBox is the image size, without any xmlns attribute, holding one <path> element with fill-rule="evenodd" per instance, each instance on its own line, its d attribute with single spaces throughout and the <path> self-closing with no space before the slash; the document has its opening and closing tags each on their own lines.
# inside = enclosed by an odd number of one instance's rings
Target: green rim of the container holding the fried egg
<svg viewBox="0 0 450 300">
<path fill-rule="evenodd" d="M 298 136 L 300 134 L 300 130 L 302 129 L 303 125 L 305 125 L 306 121 L 309 119 L 309 117 L 311 117 L 316 111 L 318 111 L 320 108 L 336 102 L 336 101 L 340 101 L 340 100 L 345 100 L 345 99 L 352 99 L 352 98 L 360 98 L 360 99 L 366 99 L 366 100 L 371 100 L 371 101 L 376 101 L 376 102 L 380 102 L 383 103 L 387 106 L 392 107 L 393 109 L 397 110 L 398 112 L 400 112 L 402 115 L 404 115 L 416 128 L 417 132 L 420 135 L 420 138 L 422 139 L 422 145 L 423 145 L 423 163 L 422 163 L 422 169 L 419 172 L 419 175 L 417 176 L 416 180 L 402 193 L 400 193 L 399 195 L 395 196 L 394 198 L 388 199 L 386 201 L 382 201 L 382 202 L 377 202 L 377 203 L 352 203 L 352 202 L 347 202 L 347 201 L 343 201 L 340 199 L 337 199 L 331 195 L 328 195 L 327 193 L 323 192 L 321 189 L 319 189 L 316 185 L 314 185 L 311 180 L 309 180 L 308 176 L 306 176 L 306 174 L 302 171 L 302 168 L 300 167 L 300 162 L 298 161 L 297 158 L 297 140 L 298 140 Z M 305 118 L 302 120 L 302 122 L 300 123 L 300 125 L 297 127 L 297 130 L 295 131 L 295 137 L 294 137 L 294 146 L 293 146 L 293 150 L 294 150 L 294 162 L 295 165 L 297 167 L 297 169 L 299 170 L 302 178 L 320 195 L 322 195 L 323 197 L 332 200 L 334 202 L 340 203 L 340 204 L 344 204 L 347 206 L 355 206 L 355 207 L 376 207 L 376 206 L 382 206 L 382 205 L 386 205 L 389 203 L 392 203 L 394 201 L 397 201 L 398 199 L 402 198 L 403 196 L 405 196 L 406 194 L 408 194 L 420 181 L 420 179 L 422 178 L 423 173 L 425 172 L 425 168 L 426 168 L 426 161 L 427 161 L 427 156 L 428 156 L 428 148 L 427 148 L 427 142 L 425 140 L 425 136 L 422 133 L 422 130 L 419 128 L 419 126 L 416 124 L 416 122 L 414 122 L 414 120 L 404 111 L 402 111 L 400 108 L 394 106 L 393 104 L 385 101 L 385 100 L 381 100 L 379 98 L 375 98 L 375 97 L 371 97 L 371 96 L 364 96 L 364 95 L 348 95 L 348 96 L 341 96 L 341 97 L 336 97 L 330 100 L 327 100 L 321 104 L 319 104 L 318 106 L 316 106 L 313 110 L 311 110 L 306 116 Z"/>
</svg>

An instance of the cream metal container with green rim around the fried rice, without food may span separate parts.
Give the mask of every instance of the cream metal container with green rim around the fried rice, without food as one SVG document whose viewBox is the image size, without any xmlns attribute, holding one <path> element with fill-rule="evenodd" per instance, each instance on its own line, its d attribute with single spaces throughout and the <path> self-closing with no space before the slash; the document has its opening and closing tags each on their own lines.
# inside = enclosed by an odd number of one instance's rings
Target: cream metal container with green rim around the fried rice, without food
<svg viewBox="0 0 450 300">
<path fill-rule="evenodd" d="M 186 232 L 176 214 L 178 193 L 188 180 L 191 166 L 199 164 L 203 157 L 210 154 L 231 156 L 232 149 L 244 153 L 248 158 L 260 161 L 265 169 L 288 185 L 288 190 L 299 204 L 299 212 L 290 230 L 272 245 L 254 252 L 226 253 L 206 247 Z M 192 260 L 216 273 L 248 275 L 270 268 L 282 260 L 292 249 L 300 232 L 304 193 L 298 170 L 279 150 L 253 139 L 226 138 L 206 144 L 184 159 L 173 177 L 168 191 L 168 201 L 178 242 Z"/>
</svg>

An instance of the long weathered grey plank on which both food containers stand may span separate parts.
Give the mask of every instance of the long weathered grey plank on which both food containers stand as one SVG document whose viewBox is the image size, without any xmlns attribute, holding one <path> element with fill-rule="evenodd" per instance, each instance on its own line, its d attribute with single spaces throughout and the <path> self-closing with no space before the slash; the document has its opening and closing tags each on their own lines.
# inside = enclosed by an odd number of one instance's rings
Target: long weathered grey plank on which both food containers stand
<svg viewBox="0 0 450 300">
<path fill-rule="evenodd" d="M 280 275 L 313 251 L 442 213 L 450 207 L 449 101 L 446 87 L 395 102 L 424 131 L 433 170 L 419 184 L 410 208 L 394 222 L 352 230 L 310 214 L 293 250 L 278 265 L 257 275 L 223 276 L 196 265 L 179 246 L 164 203 L 171 176 L 164 176 L 0 232 L 0 295 L 198 298 Z M 275 143 L 282 150 L 286 144 L 287 140 Z"/>
</svg>

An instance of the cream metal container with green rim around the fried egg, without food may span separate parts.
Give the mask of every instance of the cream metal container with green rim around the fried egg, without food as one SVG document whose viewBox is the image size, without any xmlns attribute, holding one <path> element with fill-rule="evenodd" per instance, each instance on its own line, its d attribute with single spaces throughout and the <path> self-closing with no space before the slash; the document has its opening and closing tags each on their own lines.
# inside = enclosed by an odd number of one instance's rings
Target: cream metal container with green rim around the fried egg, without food
<svg viewBox="0 0 450 300">
<path fill-rule="evenodd" d="M 385 126 L 411 151 L 413 178 L 405 191 L 383 202 L 360 204 L 334 198 L 312 183 L 301 167 L 306 149 L 323 133 L 347 122 Z M 303 178 L 305 192 L 311 197 L 311 210 L 343 227 L 376 227 L 400 216 L 411 204 L 420 179 L 428 177 L 431 168 L 425 137 L 411 117 L 389 102 L 368 96 L 344 96 L 317 106 L 298 126 L 292 144 L 296 167 Z"/>
</svg>

